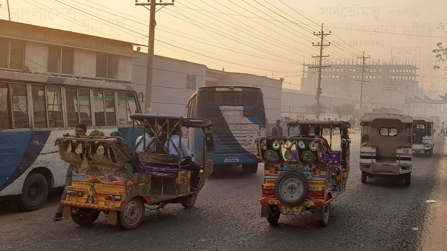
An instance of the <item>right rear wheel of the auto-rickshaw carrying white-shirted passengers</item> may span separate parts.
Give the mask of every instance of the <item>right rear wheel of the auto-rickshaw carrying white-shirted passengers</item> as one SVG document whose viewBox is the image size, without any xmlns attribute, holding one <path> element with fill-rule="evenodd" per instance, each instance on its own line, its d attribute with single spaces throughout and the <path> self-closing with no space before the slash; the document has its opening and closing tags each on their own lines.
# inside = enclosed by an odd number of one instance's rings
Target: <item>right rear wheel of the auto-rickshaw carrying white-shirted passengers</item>
<svg viewBox="0 0 447 251">
<path fill-rule="evenodd" d="M 143 221 L 144 203 L 139 198 L 127 201 L 124 210 L 118 212 L 118 223 L 125 230 L 137 228 Z"/>
</svg>

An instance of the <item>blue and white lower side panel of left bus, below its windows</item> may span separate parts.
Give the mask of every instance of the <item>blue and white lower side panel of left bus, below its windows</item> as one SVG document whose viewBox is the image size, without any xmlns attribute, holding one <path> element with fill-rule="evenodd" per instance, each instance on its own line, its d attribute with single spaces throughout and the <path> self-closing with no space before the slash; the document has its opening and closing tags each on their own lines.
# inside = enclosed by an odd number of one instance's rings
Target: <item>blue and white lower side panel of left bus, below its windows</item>
<svg viewBox="0 0 447 251">
<path fill-rule="evenodd" d="M 132 146 L 132 128 L 99 128 L 106 136 L 113 131 L 120 131 L 127 144 Z M 92 129 L 87 129 L 87 134 Z M 68 163 L 60 158 L 56 138 L 64 134 L 74 134 L 73 129 L 36 130 L 34 132 L 4 132 L 0 133 L 0 196 L 17 195 L 22 192 L 22 185 L 32 169 L 47 168 L 54 182 L 51 187 L 65 184 Z M 142 135 L 135 129 L 134 137 Z"/>
</svg>

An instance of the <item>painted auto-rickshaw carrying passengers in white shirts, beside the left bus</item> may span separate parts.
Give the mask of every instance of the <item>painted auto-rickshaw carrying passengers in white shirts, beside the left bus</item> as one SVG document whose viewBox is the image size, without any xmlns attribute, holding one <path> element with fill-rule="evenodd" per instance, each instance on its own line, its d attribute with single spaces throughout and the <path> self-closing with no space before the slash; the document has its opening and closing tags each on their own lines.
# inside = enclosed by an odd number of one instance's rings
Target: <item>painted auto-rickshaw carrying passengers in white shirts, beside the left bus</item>
<svg viewBox="0 0 447 251">
<path fill-rule="evenodd" d="M 64 218 L 71 217 L 85 226 L 92 224 L 102 211 L 108 223 L 118 223 L 128 230 L 138 227 L 146 209 L 156 209 L 153 206 L 181 203 L 190 208 L 194 205 L 198 192 L 213 171 L 211 121 L 137 113 L 131 114 L 131 118 L 133 130 L 127 133 L 132 134 L 132 147 L 120 137 L 68 135 L 56 140 L 59 154 L 72 168 L 72 185 L 66 187 L 67 199 L 61 201 L 65 205 Z M 181 164 L 182 141 L 178 139 L 182 127 L 202 131 L 202 167 L 196 189 L 191 188 L 191 171 Z M 135 143 L 136 136 L 142 132 L 152 136 L 152 140 L 141 137 Z M 173 135 L 179 137 L 178 147 L 171 139 Z M 141 152 L 135 151 L 139 144 L 143 144 Z"/>
</svg>

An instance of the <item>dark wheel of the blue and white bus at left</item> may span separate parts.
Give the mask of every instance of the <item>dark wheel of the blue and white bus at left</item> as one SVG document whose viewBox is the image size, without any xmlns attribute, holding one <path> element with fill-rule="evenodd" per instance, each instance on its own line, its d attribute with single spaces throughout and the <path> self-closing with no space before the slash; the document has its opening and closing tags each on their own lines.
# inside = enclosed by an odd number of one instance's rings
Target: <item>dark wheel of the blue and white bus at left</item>
<svg viewBox="0 0 447 251">
<path fill-rule="evenodd" d="M 32 172 L 23 183 L 18 204 L 25 211 L 34 211 L 42 207 L 48 196 L 48 182 L 41 173 Z"/>
</svg>

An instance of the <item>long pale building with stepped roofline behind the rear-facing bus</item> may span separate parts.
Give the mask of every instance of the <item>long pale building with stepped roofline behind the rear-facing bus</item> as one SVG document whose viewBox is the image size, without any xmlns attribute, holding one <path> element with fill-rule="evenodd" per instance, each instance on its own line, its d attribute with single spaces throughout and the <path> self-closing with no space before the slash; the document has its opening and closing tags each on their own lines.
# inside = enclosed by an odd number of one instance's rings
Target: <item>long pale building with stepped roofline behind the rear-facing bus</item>
<svg viewBox="0 0 447 251">
<path fill-rule="evenodd" d="M 143 97 L 141 107 L 145 101 L 146 64 L 147 54 L 134 51 L 132 86 Z M 186 116 L 188 101 L 197 88 L 223 85 L 261 88 L 266 117 L 269 120 L 281 117 L 282 80 L 213 70 L 202 64 L 162 56 L 154 56 L 152 113 Z"/>
</svg>

